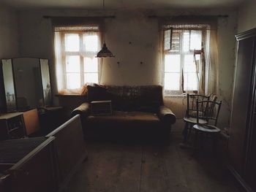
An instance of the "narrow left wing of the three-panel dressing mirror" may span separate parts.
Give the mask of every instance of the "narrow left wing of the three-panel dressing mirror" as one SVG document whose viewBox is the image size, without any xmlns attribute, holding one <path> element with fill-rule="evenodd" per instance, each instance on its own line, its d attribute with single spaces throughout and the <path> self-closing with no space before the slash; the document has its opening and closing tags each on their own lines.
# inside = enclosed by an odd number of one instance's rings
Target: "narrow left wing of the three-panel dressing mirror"
<svg viewBox="0 0 256 192">
<path fill-rule="evenodd" d="M 12 73 L 12 59 L 3 59 L 2 69 L 4 76 L 4 91 L 7 102 L 7 112 L 12 112 L 16 110 L 15 87 Z"/>
</svg>

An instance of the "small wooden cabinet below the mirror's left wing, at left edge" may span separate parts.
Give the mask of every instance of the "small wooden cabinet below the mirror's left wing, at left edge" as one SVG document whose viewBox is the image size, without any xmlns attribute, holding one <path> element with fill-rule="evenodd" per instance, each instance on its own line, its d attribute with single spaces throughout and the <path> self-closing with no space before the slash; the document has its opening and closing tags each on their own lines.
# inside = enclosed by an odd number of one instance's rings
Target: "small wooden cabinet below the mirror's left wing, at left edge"
<svg viewBox="0 0 256 192">
<path fill-rule="evenodd" d="M 0 115 L 0 140 L 18 139 L 26 136 L 22 112 Z"/>
</svg>

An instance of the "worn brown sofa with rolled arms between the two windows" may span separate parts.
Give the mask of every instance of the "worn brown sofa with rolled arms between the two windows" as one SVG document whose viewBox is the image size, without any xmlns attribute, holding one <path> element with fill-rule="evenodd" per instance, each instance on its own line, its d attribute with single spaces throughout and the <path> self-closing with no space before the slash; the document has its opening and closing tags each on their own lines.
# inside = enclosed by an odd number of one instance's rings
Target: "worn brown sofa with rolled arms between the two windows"
<svg viewBox="0 0 256 192">
<path fill-rule="evenodd" d="M 169 139 L 176 122 L 163 105 L 162 86 L 87 86 L 87 102 L 72 111 L 81 115 L 86 139 Z M 91 115 L 90 102 L 111 100 L 113 115 Z"/>
</svg>

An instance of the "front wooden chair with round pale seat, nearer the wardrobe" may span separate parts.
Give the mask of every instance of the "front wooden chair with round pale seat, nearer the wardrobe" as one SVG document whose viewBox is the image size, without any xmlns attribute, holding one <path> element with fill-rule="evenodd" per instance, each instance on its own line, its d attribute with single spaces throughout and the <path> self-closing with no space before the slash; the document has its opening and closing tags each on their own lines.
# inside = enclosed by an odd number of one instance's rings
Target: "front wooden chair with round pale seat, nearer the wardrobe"
<svg viewBox="0 0 256 192">
<path fill-rule="evenodd" d="M 203 119 L 207 123 L 200 123 L 200 106 L 203 105 L 206 107 L 205 112 L 203 113 Z M 197 123 L 193 126 L 195 130 L 195 150 L 197 150 L 197 140 L 199 136 L 211 137 L 213 139 L 214 151 L 216 150 L 217 139 L 220 133 L 220 129 L 217 128 L 217 121 L 219 118 L 219 110 L 222 106 L 222 101 L 198 101 L 197 100 Z M 204 139 L 204 138 L 202 138 Z M 203 141 L 203 140 L 202 140 Z M 202 145 L 203 146 L 203 145 Z"/>
</svg>

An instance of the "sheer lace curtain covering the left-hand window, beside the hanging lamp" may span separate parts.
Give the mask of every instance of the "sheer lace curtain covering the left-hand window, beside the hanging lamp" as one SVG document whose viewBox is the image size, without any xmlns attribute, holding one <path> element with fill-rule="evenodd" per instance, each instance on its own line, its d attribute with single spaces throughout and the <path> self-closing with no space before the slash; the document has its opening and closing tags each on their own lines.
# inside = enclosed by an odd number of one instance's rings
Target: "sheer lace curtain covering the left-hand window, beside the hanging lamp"
<svg viewBox="0 0 256 192">
<path fill-rule="evenodd" d="M 70 22 L 70 23 L 69 23 Z M 101 48 L 99 20 L 52 18 L 58 92 L 83 94 L 86 84 L 100 82 Z"/>
</svg>

